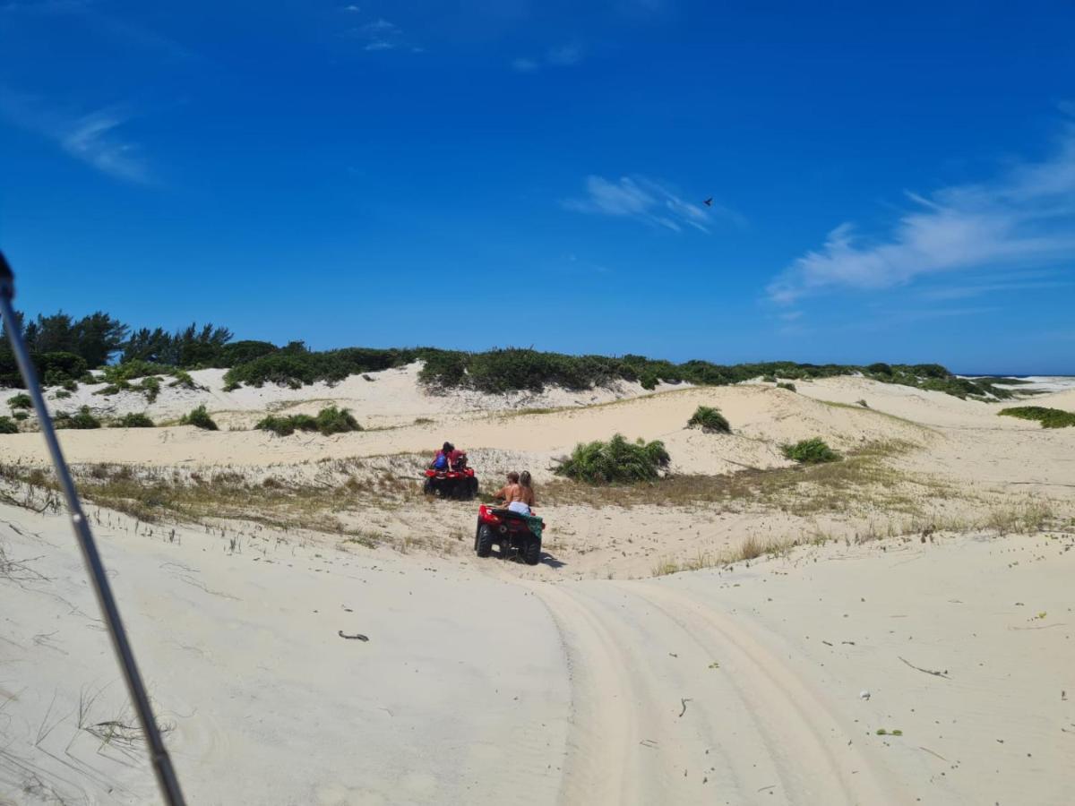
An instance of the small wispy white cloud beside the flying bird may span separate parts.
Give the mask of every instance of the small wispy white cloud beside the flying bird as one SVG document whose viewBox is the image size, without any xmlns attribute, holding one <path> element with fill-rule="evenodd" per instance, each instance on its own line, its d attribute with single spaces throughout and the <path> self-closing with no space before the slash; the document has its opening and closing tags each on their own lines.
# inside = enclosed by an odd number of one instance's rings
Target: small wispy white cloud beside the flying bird
<svg viewBox="0 0 1075 806">
<path fill-rule="evenodd" d="M 703 208 L 686 202 L 663 185 L 642 176 L 621 176 L 618 182 L 587 176 L 586 196 L 562 204 L 578 213 L 632 218 L 673 232 L 682 232 L 685 227 L 708 232 L 706 225 L 713 215 L 739 218 L 719 205 Z"/>
</svg>

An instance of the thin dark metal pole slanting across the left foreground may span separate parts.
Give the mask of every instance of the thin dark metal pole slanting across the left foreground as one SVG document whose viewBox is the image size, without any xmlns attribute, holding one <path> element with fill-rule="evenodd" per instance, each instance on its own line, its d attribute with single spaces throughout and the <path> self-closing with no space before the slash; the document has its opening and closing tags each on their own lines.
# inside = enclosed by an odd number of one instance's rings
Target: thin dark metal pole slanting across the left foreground
<svg viewBox="0 0 1075 806">
<path fill-rule="evenodd" d="M 123 621 L 119 619 L 119 608 L 116 600 L 112 595 L 112 588 L 109 586 L 109 577 L 104 573 L 101 564 L 101 557 L 97 552 L 97 545 L 94 543 L 94 534 L 89 530 L 89 522 L 82 510 L 78 502 L 78 493 L 71 478 L 63 454 L 60 451 L 60 444 L 56 440 L 56 429 L 53 427 L 52 417 L 45 408 L 45 399 L 38 385 L 38 374 L 30 361 L 30 355 L 26 349 L 26 342 L 23 341 L 23 333 L 15 320 L 15 312 L 12 310 L 11 301 L 15 297 L 15 276 L 11 267 L 0 253 L 0 315 L 8 330 L 8 339 L 11 342 L 12 351 L 18 362 L 18 370 L 26 383 L 26 390 L 33 401 L 33 409 L 38 413 L 38 421 L 41 423 L 41 434 L 45 437 L 48 446 L 48 454 L 56 469 L 56 478 L 60 484 L 60 491 L 67 502 L 68 512 L 71 514 L 71 526 L 74 528 L 74 535 L 82 549 L 82 559 L 86 563 L 86 571 L 97 593 L 97 603 L 104 614 L 105 623 L 109 625 L 109 635 L 112 636 L 112 648 L 116 651 L 116 659 L 124 672 L 124 679 L 127 682 L 127 690 L 130 692 L 131 701 L 134 703 L 134 710 L 138 711 L 139 722 L 142 724 L 142 732 L 145 734 L 146 743 L 149 746 L 149 759 L 153 762 L 153 771 L 157 776 L 157 785 L 160 787 L 160 794 L 168 806 L 184 806 L 183 792 L 180 790 L 180 781 L 175 777 L 175 769 L 172 767 L 172 760 L 164 748 L 164 742 L 157 728 L 157 720 L 153 716 L 153 706 L 149 704 L 149 695 L 145 691 L 142 676 L 139 674 L 138 665 L 134 663 L 134 653 L 131 651 L 130 642 L 127 641 L 127 633 L 124 630 Z"/>
</svg>

